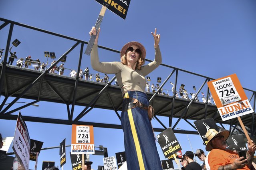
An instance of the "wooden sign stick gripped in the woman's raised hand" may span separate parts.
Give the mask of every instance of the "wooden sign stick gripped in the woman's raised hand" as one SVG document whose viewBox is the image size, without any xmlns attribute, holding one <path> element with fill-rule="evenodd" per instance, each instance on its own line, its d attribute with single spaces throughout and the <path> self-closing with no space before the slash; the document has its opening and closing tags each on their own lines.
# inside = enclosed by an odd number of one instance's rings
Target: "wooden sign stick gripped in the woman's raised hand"
<svg viewBox="0 0 256 170">
<path fill-rule="evenodd" d="M 95 28 L 97 30 L 97 34 L 98 34 L 99 27 L 101 26 L 101 22 L 103 20 L 103 17 L 104 17 L 104 14 L 106 12 L 106 9 L 107 9 L 107 7 L 103 5 L 102 8 L 101 8 L 101 12 L 99 14 L 99 17 L 97 19 L 97 22 L 95 24 Z M 91 50 L 93 49 L 93 44 L 95 42 L 95 38 L 96 38 L 97 34 L 96 35 L 92 34 L 91 38 L 90 38 L 90 40 L 89 40 L 89 42 L 87 44 L 87 48 L 85 50 L 85 54 L 87 54 L 88 56 L 90 56 L 90 54 L 91 54 Z"/>
</svg>

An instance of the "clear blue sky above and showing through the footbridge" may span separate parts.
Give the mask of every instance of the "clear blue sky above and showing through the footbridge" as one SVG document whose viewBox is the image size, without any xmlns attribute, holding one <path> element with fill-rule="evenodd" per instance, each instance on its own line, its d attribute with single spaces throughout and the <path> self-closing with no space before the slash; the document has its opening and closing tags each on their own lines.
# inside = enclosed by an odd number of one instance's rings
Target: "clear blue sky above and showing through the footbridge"
<svg viewBox="0 0 256 170">
<path fill-rule="evenodd" d="M 101 24 L 99 45 L 120 50 L 127 42 L 138 41 L 145 46 L 147 58 L 153 60 L 153 37 L 150 32 L 157 28 L 157 33 L 161 34 L 160 48 L 164 64 L 211 78 L 236 73 L 244 88 L 256 90 L 254 76 L 255 9 L 254 0 L 132 0 L 126 20 L 109 10 L 106 11 Z M 91 26 L 95 25 L 100 10 L 101 5 L 95 0 L 3 0 L 0 17 L 89 41 L 88 32 Z M 0 48 L 6 48 L 8 29 L 9 26 L 6 26 L 0 30 Z M 34 60 L 39 58 L 41 62 L 46 62 L 44 51 L 55 52 L 58 58 L 75 44 L 71 40 L 19 26 L 14 26 L 12 41 L 16 38 L 21 44 L 17 48 L 14 47 L 12 51 L 17 52 L 18 58 L 30 55 Z M 68 55 L 65 68 L 77 69 L 79 50 L 80 45 Z M 118 53 L 100 49 L 99 55 L 101 61 L 119 61 Z M 51 61 L 50 59 L 49 62 Z M 96 73 L 90 66 L 89 56 L 84 54 L 81 68 L 84 70 L 86 67 L 89 67 L 92 74 Z M 151 83 L 156 83 L 158 76 L 164 80 L 171 71 L 172 69 L 160 66 L 149 75 Z M 69 72 L 66 69 L 64 75 L 68 76 Z M 113 75 L 109 76 L 113 77 Z M 174 82 L 174 76 L 169 81 Z M 178 85 L 185 84 L 188 92 L 193 92 L 192 86 L 199 88 L 203 82 L 202 78 L 179 73 Z M 164 88 L 171 89 L 171 86 L 167 83 Z M 206 94 L 206 87 L 202 91 Z M 250 93 L 246 92 L 246 94 L 250 98 Z M 0 102 L 2 100 L 3 96 Z M 13 98 L 8 99 L 7 103 L 12 100 Z M 29 100 L 20 99 L 19 102 L 29 102 Z M 38 104 L 40 107 L 30 106 L 21 110 L 22 115 L 67 118 L 65 104 L 43 101 Z M 19 104 L 15 104 L 12 108 L 18 106 Z M 83 108 L 76 106 L 75 115 L 79 114 Z M 168 126 L 166 118 L 159 118 L 165 126 Z M 111 110 L 93 109 L 81 120 L 120 124 L 115 112 Z M 153 120 L 152 123 L 153 127 L 162 128 L 157 121 Z M 15 124 L 16 121 L 0 120 L 2 135 L 13 136 Z M 5 128 L 6 126 L 8 128 Z M 27 122 L 27 126 L 30 138 L 44 142 L 44 148 L 58 146 L 64 138 L 66 138 L 66 144 L 71 144 L 71 126 L 35 122 Z M 191 127 L 183 121 L 177 127 L 191 130 Z M 122 130 L 95 128 L 94 132 L 95 146 L 107 147 L 109 156 L 114 156 L 115 152 L 124 151 Z M 200 136 L 188 136 L 194 151 L 204 148 Z M 185 134 L 176 134 L 176 137 L 181 143 L 183 152 L 191 150 Z M 163 160 L 164 156 L 159 144 L 157 147 L 159 156 Z M 69 150 L 70 148 L 66 149 L 67 152 Z M 43 160 L 55 161 L 55 164 L 59 165 L 58 149 L 42 151 L 39 156 L 38 169 L 42 167 Z M 103 165 L 102 160 L 103 156 L 91 156 L 91 161 L 94 162 L 93 168 L 97 169 L 98 165 Z M 34 162 L 30 161 L 30 169 L 33 167 Z M 71 169 L 68 154 L 64 169 Z"/>
</svg>

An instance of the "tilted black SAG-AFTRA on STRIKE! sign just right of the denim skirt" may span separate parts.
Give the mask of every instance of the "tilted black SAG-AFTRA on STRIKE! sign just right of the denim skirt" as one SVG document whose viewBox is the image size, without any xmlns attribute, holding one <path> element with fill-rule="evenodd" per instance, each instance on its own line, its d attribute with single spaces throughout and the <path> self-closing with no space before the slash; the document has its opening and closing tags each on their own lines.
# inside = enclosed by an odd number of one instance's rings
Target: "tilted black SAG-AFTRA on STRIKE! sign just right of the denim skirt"
<svg viewBox="0 0 256 170">
<path fill-rule="evenodd" d="M 173 154 L 181 150 L 181 146 L 171 128 L 165 129 L 163 132 L 157 135 L 157 138 L 165 158 L 170 160 L 173 158 Z"/>
</svg>

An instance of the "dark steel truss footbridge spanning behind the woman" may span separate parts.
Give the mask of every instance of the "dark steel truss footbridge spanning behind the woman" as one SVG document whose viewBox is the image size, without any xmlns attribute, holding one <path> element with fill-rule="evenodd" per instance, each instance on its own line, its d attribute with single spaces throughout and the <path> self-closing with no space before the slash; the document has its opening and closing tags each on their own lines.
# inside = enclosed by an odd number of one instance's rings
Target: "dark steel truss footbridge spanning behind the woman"
<svg viewBox="0 0 256 170">
<path fill-rule="evenodd" d="M 52 66 L 50 66 L 46 72 L 40 72 L 38 70 L 31 70 L 26 68 L 20 68 L 17 66 L 11 66 L 6 64 L 7 54 L 4 56 L 4 62 L 0 64 L 0 89 L 1 89 L 1 99 L 2 104 L 0 106 L 0 118 L 7 120 L 16 120 L 17 116 L 12 113 L 35 104 L 39 101 L 46 102 L 56 102 L 61 103 L 67 106 L 67 116 L 66 119 L 62 117 L 62 119 L 52 119 L 47 118 L 44 115 L 41 117 L 35 116 L 26 116 L 23 115 L 24 120 L 33 121 L 33 122 L 47 122 L 47 123 L 56 123 L 56 124 L 87 124 L 93 125 L 95 127 L 103 127 L 103 128 L 119 128 L 121 129 L 120 124 L 102 124 L 98 122 L 83 122 L 81 118 L 85 116 L 88 112 L 90 112 L 93 108 L 101 108 L 107 110 L 113 110 L 117 116 L 120 118 L 119 112 L 122 110 L 122 100 L 123 97 L 121 95 L 121 90 L 118 86 L 113 85 L 113 81 L 115 78 L 109 81 L 108 84 L 100 83 L 100 82 L 92 82 L 90 80 L 81 80 L 77 76 L 77 78 L 71 78 L 67 76 L 60 76 L 57 74 L 49 73 L 49 70 L 54 67 L 64 56 L 69 54 L 78 44 L 81 44 L 81 52 L 80 59 L 83 54 L 83 45 L 88 44 L 88 42 L 78 40 L 75 38 L 71 38 L 68 36 L 63 36 L 60 34 L 56 34 L 53 32 L 49 32 L 46 30 L 41 30 L 39 28 L 34 28 L 32 26 L 28 26 L 25 24 L 20 24 L 18 22 L 13 22 L 10 20 L 6 20 L 4 18 L 0 18 L 1 21 L 4 22 L 0 26 L 0 30 L 10 24 L 10 30 L 6 45 L 6 51 L 10 48 L 10 40 L 12 36 L 12 29 L 14 25 L 22 26 L 28 29 L 44 32 L 46 34 L 51 34 L 53 36 L 58 36 L 61 38 L 66 38 L 69 40 L 73 40 L 75 45 L 72 46 L 67 52 L 65 52 L 62 57 L 60 57 Z M 109 49 L 107 47 L 98 46 L 99 48 L 103 48 L 105 50 L 110 50 L 112 52 L 119 52 L 113 49 Z M 150 62 L 151 60 L 146 61 Z M 163 81 L 162 85 L 159 89 L 169 80 L 169 78 L 175 73 L 175 82 L 174 82 L 174 91 L 176 91 L 177 79 L 178 79 L 178 71 L 185 72 L 187 74 L 193 74 L 195 76 L 200 76 L 205 79 L 204 84 L 198 89 L 196 92 L 196 96 L 201 91 L 202 87 L 205 86 L 206 82 L 213 80 L 212 78 L 202 76 L 193 72 L 188 72 L 186 70 L 182 70 L 179 68 L 175 68 L 172 66 L 168 66 L 166 64 L 161 64 L 162 66 L 172 68 L 173 71 L 169 74 L 167 78 Z M 78 63 L 78 69 L 80 70 L 81 60 Z M 207 86 L 207 85 L 206 85 Z M 244 88 L 252 94 L 249 101 L 252 104 L 252 107 L 255 110 L 255 98 L 256 92 L 253 90 L 249 90 Z M 208 89 L 209 92 L 209 89 Z M 206 101 L 208 101 L 208 92 L 206 96 Z M 238 126 L 238 120 L 232 119 L 226 122 L 223 122 L 220 114 L 218 113 L 218 109 L 214 104 L 210 104 L 208 102 L 194 102 L 193 100 L 186 100 L 183 98 L 175 98 L 173 96 L 165 96 L 157 94 L 157 92 L 148 92 L 147 93 L 149 104 L 151 104 L 155 109 L 155 119 L 163 126 L 163 128 L 154 128 L 155 131 L 163 131 L 167 128 L 160 120 L 159 116 L 164 116 L 169 119 L 169 126 L 173 128 L 175 133 L 187 133 L 187 134 L 198 134 L 196 128 L 193 124 L 191 124 L 188 120 L 201 120 L 204 118 L 213 118 L 215 122 L 222 124 L 229 124 L 230 130 L 231 128 L 236 128 Z M 14 100 L 4 107 L 6 100 L 9 97 L 14 97 Z M 3 99 L 4 98 L 4 99 Z M 34 100 L 29 104 L 25 104 L 19 108 L 15 108 L 11 110 L 12 105 L 17 102 L 20 98 L 26 98 L 30 100 Z M 251 101 L 252 100 L 252 101 Z M 71 109 L 70 109 L 71 106 Z M 85 109 L 78 114 L 78 116 L 74 116 L 74 107 L 75 106 L 84 106 Z M 254 120 L 255 112 L 253 114 L 247 114 L 242 116 L 242 121 L 245 126 L 250 128 L 251 136 L 256 135 L 256 121 Z M 175 123 L 173 122 L 173 118 L 175 119 Z M 187 130 L 175 130 L 175 127 L 179 123 L 179 121 L 183 119 L 188 124 L 190 124 L 195 131 L 187 131 Z M 174 123 L 174 125 L 173 125 Z"/>
</svg>

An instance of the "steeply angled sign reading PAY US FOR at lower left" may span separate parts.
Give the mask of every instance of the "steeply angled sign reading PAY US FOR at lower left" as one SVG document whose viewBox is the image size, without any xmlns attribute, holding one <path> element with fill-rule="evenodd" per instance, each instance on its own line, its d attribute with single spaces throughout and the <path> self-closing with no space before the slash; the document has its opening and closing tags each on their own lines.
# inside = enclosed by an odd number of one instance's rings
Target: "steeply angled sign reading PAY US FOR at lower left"
<svg viewBox="0 0 256 170">
<path fill-rule="evenodd" d="M 30 137 L 28 134 L 28 128 L 20 112 L 18 114 L 12 149 L 18 160 L 24 165 L 25 170 L 28 170 L 30 158 Z"/>
</svg>

